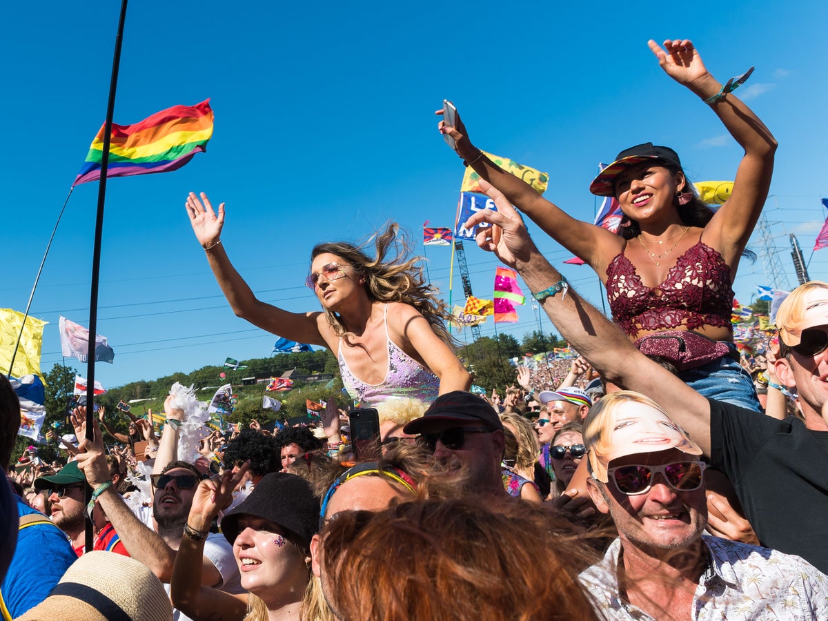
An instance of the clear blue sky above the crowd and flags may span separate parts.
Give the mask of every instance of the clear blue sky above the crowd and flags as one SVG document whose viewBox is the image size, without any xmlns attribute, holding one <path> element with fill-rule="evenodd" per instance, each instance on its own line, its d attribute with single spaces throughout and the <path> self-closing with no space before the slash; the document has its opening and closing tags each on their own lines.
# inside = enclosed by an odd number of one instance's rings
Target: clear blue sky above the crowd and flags
<svg viewBox="0 0 828 621">
<path fill-rule="evenodd" d="M 106 111 L 120 3 L 15 2 L 2 9 L 6 125 L 0 228 L 0 307 L 24 310 L 71 181 Z M 806 260 L 826 217 L 825 2 L 132 2 L 116 123 L 212 98 L 207 153 L 180 171 L 109 180 L 99 333 L 115 349 L 104 386 L 265 357 L 276 337 L 236 318 L 209 272 L 184 210 L 189 190 L 227 203 L 223 240 L 263 300 L 315 310 L 302 285 L 314 243 L 359 240 L 389 220 L 412 232 L 450 226 L 463 175 L 436 132 L 452 99 L 474 142 L 550 173 L 546 196 L 591 220 L 599 161 L 639 142 L 676 149 L 696 181 L 732 179 L 741 152 L 715 115 L 662 73 L 647 39 L 690 38 L 724 82 L 755 65 L 739 96 L 780 147 L 765 214 L 787 284 L 788 234 Z M 50 322 L 42 368 L 60 362 L 61 314 L 85 324 L 97 184 L 80 185 L 36 291 L 31 314 Z M 570 257 L 530 225 L 556 265 Z M 771 284 L 760 254 L 739 268 L 748 303 Z M 422 246 L 417 246 L 422 252 Z M 475 295 L 490 296 L 496 260 L 467 244 Z M 446 292 L 449 257 L 428 248 L 431 281 Z M 811 258 L 826 278 L 828 249 Z M 565 266 L 600 308 L 588 267 Z M 784 286 L 784 281 L 779 283 Z M 455 271 L 455 294 L 461 294 Z M 518 338 L 537 328 L 530 306 Z M 543 319 L 543 327 L 551 326 Z M 493 335 L 493 325 L 483 326 Z M 67 361 L 72 363 L 72 361 Z M 77 363 L 77 361 L 75 361 Z M 76 367 L 82 368 L 78 364 Z"/>
</svg>

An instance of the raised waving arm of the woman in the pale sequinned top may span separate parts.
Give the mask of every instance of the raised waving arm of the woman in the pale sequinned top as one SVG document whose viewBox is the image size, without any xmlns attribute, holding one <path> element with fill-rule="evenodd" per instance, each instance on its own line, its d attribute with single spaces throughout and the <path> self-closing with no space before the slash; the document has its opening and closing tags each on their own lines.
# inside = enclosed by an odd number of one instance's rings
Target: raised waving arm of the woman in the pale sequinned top
<svg viewBox="0 0 828 621">
<path fill-rule="evenodd" d="M 187 214 L 193 226 L 195 238 L 205 249 L 209 267 L 230 303 L 233 312 L 262 330 L 274 335 L 300 343 L 325 345 L 320 335 L 317 318 L 320 313 L 291 313 L 278 306 L 260 301 L 247 282 L 236 271 L 221 242 L 224 228 L 224 203 L 219 205 L 216 214 L 207 195 L 201 192 L 201 198 L 190 192 L 186 202 Z"/>
</svg>

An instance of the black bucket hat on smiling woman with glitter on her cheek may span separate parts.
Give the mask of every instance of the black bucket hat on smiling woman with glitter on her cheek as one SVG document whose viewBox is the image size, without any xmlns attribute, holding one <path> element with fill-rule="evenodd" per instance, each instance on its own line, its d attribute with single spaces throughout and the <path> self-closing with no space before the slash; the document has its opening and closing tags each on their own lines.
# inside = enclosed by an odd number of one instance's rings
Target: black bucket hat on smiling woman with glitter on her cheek
<svg viewBox="0 0 828 621">
<path fill-rule="evenodd" d="M 238 507 L 224 514 L 221 532 L 230 543 L 236 541 L 243 515 L 262 517 L 299 537 L 306 545 L 319 530 L 319 498 L 310 484 L 296 474 L 272 472 L 262 480 Z"/>
</svg>

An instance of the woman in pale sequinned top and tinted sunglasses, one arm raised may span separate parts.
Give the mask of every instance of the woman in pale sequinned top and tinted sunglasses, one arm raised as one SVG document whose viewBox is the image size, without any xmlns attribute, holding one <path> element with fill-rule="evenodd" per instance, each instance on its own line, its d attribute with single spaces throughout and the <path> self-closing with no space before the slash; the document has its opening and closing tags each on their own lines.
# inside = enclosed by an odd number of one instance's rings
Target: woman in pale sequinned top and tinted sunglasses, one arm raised
<svg viewBox="0 0 828 621">
<path fill-rule="evenodd" d="M 364 407 L 388 397 L 433 401 L 468 390 L 469 373 L 454 353 L 445 305 L 427 285 L 418 258 L 397 239 L 397 224 L 373 238 L 375 254 L 353 243 L 320 243 L 310 253 L 312 289 L 322 312 L 291 313 L 259 300 L 224 250 L 224 203 L 205 193 L 186 202 L 195 237 L 236 315 L 274 335 L 322 345 L 336 354 L 342 381 Z"/>
</svg>

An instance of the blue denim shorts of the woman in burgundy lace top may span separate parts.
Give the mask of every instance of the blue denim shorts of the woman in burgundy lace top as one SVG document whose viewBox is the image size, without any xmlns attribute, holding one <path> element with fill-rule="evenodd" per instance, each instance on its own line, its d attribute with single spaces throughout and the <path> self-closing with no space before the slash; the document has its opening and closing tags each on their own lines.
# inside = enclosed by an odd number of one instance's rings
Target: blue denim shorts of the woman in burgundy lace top
<svg viewBox="0 0 828 621">
<path fill-rule="evenodd" d="M 728 343 L 728 347 L 731 352 L 737 352 L 734 344 Z M 763 411 L 750 373 L 730 356 L 722 356 L 700 367 L 680 371 L 678 377 L 705 397 L 756 412 Z"/>
</svg>

